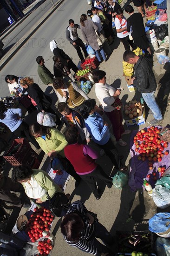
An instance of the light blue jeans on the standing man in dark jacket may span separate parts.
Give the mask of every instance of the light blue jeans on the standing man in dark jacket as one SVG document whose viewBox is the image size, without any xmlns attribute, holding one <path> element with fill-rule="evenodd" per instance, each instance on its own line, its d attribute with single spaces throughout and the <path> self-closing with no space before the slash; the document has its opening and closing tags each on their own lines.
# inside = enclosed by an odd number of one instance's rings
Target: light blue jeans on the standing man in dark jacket
<svg viewBox="0 0 170 256">
<path fill-rule="evenodd" d="M 157 120 L 161 120 L 162 114 L 161 110 L 157 105 L 156 99 L 155 99 L 155 91 L 152 93 L 142 93 L 142 97 L 144 98 L 144 101 L 146 102 L 148 108 L 153 112 L 153 116 Z"/>
</svg>

